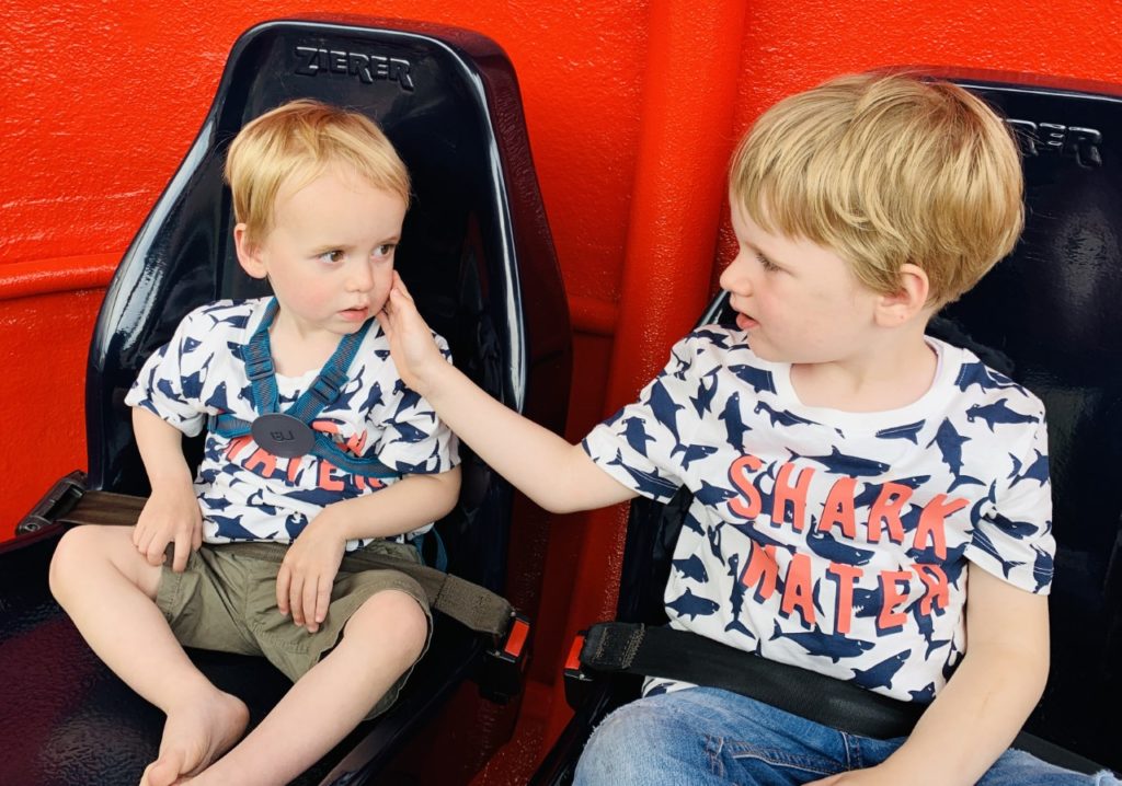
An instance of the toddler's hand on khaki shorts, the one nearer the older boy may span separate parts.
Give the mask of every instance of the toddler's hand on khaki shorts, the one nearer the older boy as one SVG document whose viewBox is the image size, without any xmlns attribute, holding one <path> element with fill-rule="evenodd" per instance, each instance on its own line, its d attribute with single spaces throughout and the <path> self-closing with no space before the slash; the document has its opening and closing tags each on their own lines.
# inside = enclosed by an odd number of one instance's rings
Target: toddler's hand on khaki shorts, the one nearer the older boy
<svg viewBox="0 0 1122 786">
<path fill-rule="evenodd" d="M 329 509 L 293 540 L 277 572 L 277 608 L 282 614 L 291 611 L 292 621 L 310 634 L 328 617 L 331 588 L 347 548 L 347 539 L 331 525 Z"/>
</svg>

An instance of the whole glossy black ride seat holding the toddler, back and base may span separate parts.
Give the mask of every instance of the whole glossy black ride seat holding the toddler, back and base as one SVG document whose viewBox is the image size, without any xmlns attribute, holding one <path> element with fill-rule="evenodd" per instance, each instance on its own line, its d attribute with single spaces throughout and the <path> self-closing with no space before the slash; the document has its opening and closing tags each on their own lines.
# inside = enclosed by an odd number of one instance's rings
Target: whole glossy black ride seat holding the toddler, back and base
<svg viewBox="0 0 1122 786">
<path fill-rule="evenodd" d="M 197 139 L 107 293 L 86 374 L 89 489 L 147 493 L 122 399 L 180 318 L 215 298 L 265 294 L 237 263 L 221 167 L 245 122 L 302 96 L 381 124 L 413 176 L 397 268 L 421 312 L 476 382 L 562 429 L 568 312 L 505 54 L 477 34 L 427 25 L 274 21 L 234 45 Z M 196 440 L 188 454 L 200 449 Z M 463 472 L 460 505 L 438 524 L 448 570 L 502 593 L 512 490 L 467 451 Z M 54 507 L 80 493 L 81 484 L 64 484 Z M 62 528 L 40 517 L 48 507 L 27 519 L 27 534 L 0 545 L 0 737 L 8 741 L 0 783 L 135 784 L 156 753 L 163 715 L 98 662 L 50 598 L 47 565 Z M 488 646 L 438 616 L 429 655 L 397 706 L 297 783 L 365 783 L 479 668 Z M 249 703 L 255 723 L 288 688 L 264 659 L 193 656 Z"/>
</svg>

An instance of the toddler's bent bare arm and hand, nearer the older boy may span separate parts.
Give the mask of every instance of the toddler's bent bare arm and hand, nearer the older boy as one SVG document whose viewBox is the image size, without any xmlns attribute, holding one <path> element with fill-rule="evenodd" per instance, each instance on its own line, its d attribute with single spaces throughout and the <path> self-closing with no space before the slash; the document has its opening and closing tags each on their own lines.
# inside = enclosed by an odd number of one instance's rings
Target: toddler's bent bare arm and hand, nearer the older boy
<svg viewBox="0 0 1122 786">
<path fill-rule="evenodd" d="M 348 540 L 393 537 L 443 517 L 460 496 L 460 468 L 411 474 L 377 493 L 329 505 L 293 540 L 277 572 L 277 608 L 315 632 Z"/>
</svg>

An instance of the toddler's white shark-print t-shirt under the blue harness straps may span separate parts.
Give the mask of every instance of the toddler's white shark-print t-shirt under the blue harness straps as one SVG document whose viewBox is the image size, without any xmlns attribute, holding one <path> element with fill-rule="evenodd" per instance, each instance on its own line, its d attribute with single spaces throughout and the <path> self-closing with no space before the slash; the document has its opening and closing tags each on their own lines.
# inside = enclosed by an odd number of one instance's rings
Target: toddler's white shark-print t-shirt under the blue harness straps
<svg viewBox="0 0 1122 786">
<path fill-rule="evenodd" d="M 172 340 L 148 358 L 125 403 L 156 414 L 187 436 L 200 434 L 209 415 L 230 413 L 251 422 L 257 413 L 240 353 L 268 302 L 221 300 L 187 314 Z M 450 361 L 448 343 L 440 336 L 436 341 Z M 296 378 L 277 374 L 278 409 L 295 401 L 318 376 L 319 370 Z M 312 426 L 344 453 L 376 456 L 403 474 L 439 473 L 459 463 L 456 436 L 402 382 L 377 324 L 359 345 L 339 398 Z M 195 477 L 203 539 L 291 543 L 328 505 L 394 482 L 356 475 L 311 454 L 278 457 L 248 434 L 227 438 L 208 433 Z M 404 542 L 431 527 L 394 539 Z M 369 542 L 350 540 L 347 551 Z"/>
</svg>

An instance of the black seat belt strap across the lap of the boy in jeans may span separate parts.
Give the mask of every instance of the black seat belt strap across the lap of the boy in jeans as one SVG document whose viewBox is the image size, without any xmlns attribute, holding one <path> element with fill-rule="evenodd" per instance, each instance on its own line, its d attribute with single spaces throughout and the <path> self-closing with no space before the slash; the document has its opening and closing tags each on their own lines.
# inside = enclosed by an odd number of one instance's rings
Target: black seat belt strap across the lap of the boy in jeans
<svg viewBox="0 0 1122 786">
<path fill-rule="evenodd" d="M 663 626 L 598 622 L 580 662 L 597 672 L 666 677 L 732 691 L 861 737 L 905 737 L 926 705 L 901 702 L 810 669 Z"/>
</svg>

